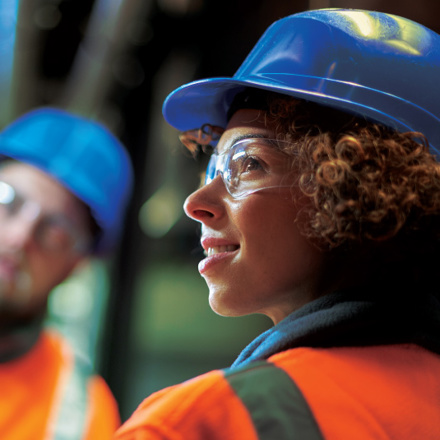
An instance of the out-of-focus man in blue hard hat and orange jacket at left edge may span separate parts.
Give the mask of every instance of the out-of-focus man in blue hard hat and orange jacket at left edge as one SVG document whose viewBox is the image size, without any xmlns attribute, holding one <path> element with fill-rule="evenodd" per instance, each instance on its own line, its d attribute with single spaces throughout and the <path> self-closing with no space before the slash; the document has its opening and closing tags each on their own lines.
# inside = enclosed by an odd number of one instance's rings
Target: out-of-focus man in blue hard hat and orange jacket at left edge
<svg viewBox="0 0 440 440">
<path fill-rule="evenodd" d="M 0 438 L 111 438 L 109 388 L 43 322 L 51 290 L 117 243 L 128 154 L 101 125 L 42 108 L 0 133 L 0 155 Z"/>
</svg>

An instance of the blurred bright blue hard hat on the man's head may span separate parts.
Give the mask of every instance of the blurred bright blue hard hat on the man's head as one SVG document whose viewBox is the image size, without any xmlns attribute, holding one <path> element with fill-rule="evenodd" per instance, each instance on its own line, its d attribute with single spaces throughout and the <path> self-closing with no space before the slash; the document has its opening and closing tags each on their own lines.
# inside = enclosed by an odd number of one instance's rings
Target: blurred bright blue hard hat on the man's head
<svg viewBox="0 0 440 440">
<path fill-rule="evenodd" d="M 116 244 L 131 197 L 128 153 L 104 126 L 55 108 L 21 116 L 0 133 L 0 155 L 33 165 L 82 200 L 101 228 L 94 252 Z"/>
</svg>

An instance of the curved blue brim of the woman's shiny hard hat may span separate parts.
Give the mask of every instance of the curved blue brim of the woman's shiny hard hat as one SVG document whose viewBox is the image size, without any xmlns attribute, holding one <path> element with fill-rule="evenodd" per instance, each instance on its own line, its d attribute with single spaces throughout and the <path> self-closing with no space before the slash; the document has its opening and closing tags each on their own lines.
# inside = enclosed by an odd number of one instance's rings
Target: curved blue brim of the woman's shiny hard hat
<svg viewBox="0 0 440 440">
<path fill-rule="evenodd" d="M 295 83 L 296 87 L 286 87 L 283 77 L 287 75 L 289 83 Z M 292 80 L 292 76 L 296 78 Z M 352 82 L 292 74 L 266 74 L 246 80 L 209 78 L 185 84 L 165 99 L 164 118 L 179 131 L 197 129 L 206 123 L 225 128 L 235 95 L 246 88 L 268 90 L 334 107 L 401 132 L 423 132 L 425 126 L 428 130 L 431 124 L 440 124 L 435 115 L 398 96 Z M 405 118 L 407 114 L 411 114 L 411 121 Z M 430 144 L 439 152 L 440 134 L 438 139 L 430 139 Z"/>
</svg>

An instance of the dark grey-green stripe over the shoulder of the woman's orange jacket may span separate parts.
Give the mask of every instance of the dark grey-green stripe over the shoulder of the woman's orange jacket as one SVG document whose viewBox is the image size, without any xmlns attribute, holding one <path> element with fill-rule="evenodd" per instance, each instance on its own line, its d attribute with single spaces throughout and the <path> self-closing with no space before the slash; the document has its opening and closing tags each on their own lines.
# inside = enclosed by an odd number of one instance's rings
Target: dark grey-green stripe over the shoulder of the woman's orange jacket
<svg viewBox="0 0 440 440">
<path fill-rule="evenodd" d="M 246 406 L 260 440 L 323 440 L 304 396 L 283 369 L 254 362 L 226 370 L 225 378 Z"/>
</svg>

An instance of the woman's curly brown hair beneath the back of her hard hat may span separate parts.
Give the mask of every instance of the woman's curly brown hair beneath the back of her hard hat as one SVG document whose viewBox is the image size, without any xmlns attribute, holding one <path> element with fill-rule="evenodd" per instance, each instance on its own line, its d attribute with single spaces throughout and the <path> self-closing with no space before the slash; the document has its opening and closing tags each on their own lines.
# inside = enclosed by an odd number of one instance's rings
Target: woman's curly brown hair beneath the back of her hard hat
<svg viewBox="0 0 440 440">
<path fill-rule="evenodd" d="M 438 252 L 440 163 L 421 133 L 267 96 L 267 121 L 290 141 L 298 186 L 312 202 L 298 221 L 306 237 L 327 250 L 391 241 L 398 252 Z"/>
</svg>

